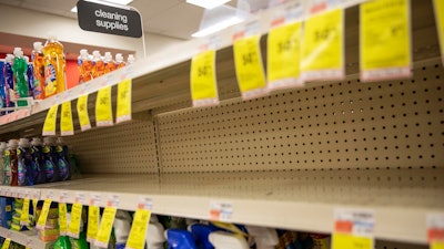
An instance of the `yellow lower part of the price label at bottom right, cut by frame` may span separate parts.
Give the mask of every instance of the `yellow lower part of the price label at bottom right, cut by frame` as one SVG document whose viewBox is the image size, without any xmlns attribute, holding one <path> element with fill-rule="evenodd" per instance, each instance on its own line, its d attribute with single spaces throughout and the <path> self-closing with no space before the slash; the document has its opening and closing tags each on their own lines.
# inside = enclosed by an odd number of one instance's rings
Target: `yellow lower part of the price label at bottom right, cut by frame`
<svg viewBox="0 0 444 249">
<path fill-rule="evenodd" d="M 349 234 L 333 234 L 332 249 L 373 249 L 373 238 Z"/>
</svg>

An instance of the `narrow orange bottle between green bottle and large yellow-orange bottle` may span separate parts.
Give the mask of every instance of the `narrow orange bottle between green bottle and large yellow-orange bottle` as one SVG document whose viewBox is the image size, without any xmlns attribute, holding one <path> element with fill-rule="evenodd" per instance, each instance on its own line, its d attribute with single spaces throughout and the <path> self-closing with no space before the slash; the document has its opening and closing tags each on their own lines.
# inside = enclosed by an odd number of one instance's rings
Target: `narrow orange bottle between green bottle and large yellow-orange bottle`
<svg viewBox="0 0 444 249">
<path fill-rule="evenodd" d="M 34 70 L 34 100 L 44 100 L 44 60 L 43 60 L 43 45 L 41 42 L 33 43 L 31 59 Z"/>
</svg>

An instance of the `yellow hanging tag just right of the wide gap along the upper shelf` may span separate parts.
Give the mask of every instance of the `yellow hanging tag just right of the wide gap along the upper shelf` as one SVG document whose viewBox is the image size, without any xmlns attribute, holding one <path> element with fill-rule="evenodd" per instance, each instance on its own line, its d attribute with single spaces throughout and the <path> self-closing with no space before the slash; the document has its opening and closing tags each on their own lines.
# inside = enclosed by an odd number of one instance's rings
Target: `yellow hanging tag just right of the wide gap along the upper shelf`
<svg viewBox="0 0 444 249">
<path fill-rule="evenodd" d="M 193 106 L 219 104 L 214 50 L 208 50 L 193 56 L 190 77 Z"/>
</svg>

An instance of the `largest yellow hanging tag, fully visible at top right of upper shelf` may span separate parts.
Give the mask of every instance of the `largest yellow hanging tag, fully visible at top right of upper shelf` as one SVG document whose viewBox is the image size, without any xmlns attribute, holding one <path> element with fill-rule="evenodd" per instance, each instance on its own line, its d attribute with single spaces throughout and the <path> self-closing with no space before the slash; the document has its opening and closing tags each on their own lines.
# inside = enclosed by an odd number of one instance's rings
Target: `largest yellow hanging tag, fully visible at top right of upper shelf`
<svg viewBox="0 0 444 249">
<path fill-rule="evenodd" d="M 410 0 L 375 0 L 360 7 L 361 80 L 411 76 Z"/>
</svg>

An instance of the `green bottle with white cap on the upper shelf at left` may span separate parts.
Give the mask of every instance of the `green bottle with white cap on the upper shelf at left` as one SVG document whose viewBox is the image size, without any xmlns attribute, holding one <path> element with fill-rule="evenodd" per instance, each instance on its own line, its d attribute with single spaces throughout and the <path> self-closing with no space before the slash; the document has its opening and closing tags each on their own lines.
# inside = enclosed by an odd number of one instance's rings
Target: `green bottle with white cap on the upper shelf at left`
<svg viewBox="0 0 444 249">
<path fill-rule="evenodd" d="M 12 63 L 12 72 L 16 80 L 16 95 L 17 97 L 28 97 L 29 96 L 29 89 L 28 89 L 28 81 L 27 81 L 27 70 L 28 63 L 24 60 L 23 51 L 21 48 L 14 49 L 14 59 Z M 27 101 L 18 101 L 17 106 L 27 106 Z"/>
</svg>

